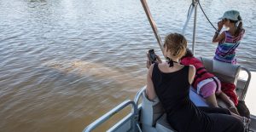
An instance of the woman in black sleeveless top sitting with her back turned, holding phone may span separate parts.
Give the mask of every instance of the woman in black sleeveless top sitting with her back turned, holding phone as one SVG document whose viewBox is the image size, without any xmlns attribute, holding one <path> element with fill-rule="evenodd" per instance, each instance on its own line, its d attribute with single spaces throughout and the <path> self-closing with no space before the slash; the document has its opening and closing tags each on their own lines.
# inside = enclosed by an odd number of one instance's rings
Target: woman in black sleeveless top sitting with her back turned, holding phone
<svg viewBox="0 0 256 132">
<path fill-rule="evenodd" d="M 189 100 L 195 67 L 183 66 L 178 62 L 187 48 L 183 35 L 168 35 L 164 48 L 164 55 L 169 60 L 149 67 L 146 94 L 149 100 L 160 99 L 168 123 L 178 132 L 242 132 L 241 120 L 230 116 L 228 110 L 196 107 Z"/>
</svg>

